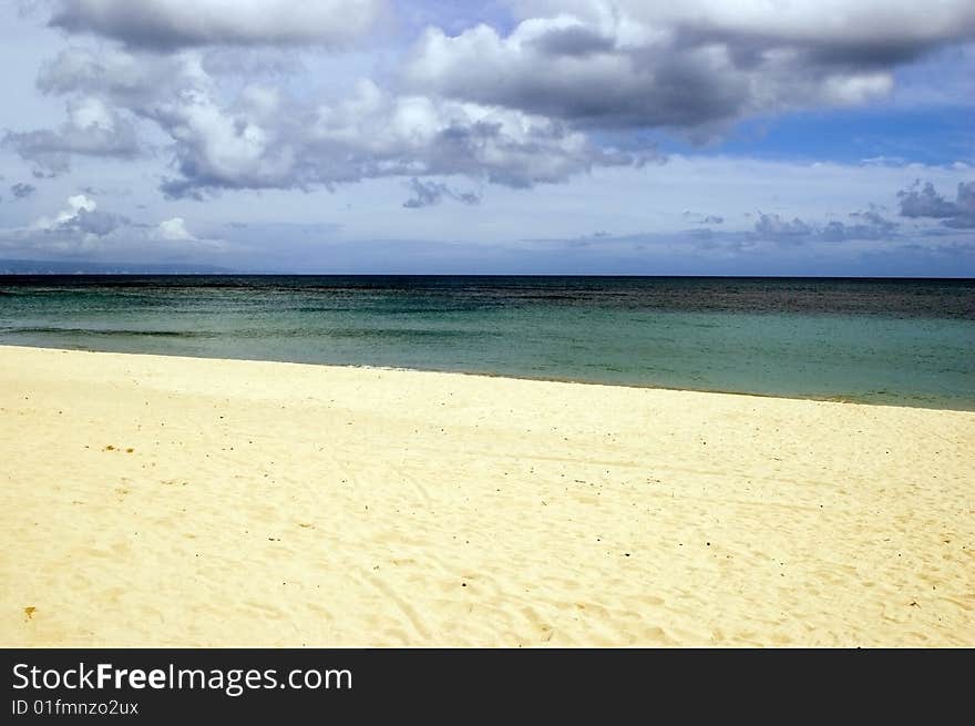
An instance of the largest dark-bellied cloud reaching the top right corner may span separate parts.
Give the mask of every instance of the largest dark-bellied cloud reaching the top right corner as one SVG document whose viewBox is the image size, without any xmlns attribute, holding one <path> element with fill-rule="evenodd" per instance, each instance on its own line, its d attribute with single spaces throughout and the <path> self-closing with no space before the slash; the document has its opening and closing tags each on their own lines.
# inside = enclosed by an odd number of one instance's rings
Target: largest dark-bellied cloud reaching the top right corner
<svg viewBox="0 0 975 726">
<path fill-rule="evenodd" d="M 413 89 L 581 127 L 709 133 L 747 115 L 884 96 L 893 69 L 975 37 L 975 6 L 861 0 L 516 2 L 502 35 L 430 28 Z"/>
</svg>

